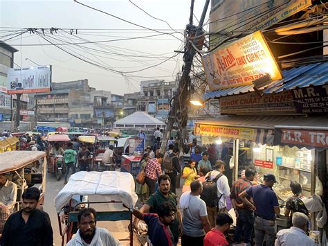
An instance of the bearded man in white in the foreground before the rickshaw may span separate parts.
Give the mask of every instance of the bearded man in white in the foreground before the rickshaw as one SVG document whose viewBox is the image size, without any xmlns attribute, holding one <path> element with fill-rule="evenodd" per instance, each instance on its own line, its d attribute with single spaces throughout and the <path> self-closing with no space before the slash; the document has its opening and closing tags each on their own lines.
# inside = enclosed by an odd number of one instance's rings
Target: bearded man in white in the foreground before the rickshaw
<svg viewBox="0 0 328 246">
<path fill-rule="evenodd" d="M 78 231 L 67 246 L 75 245 L 120 245 L 118 240 L 105 228 L 96 227 L 95 209 L 82 209 L 78 213 Z"/>
</svg>

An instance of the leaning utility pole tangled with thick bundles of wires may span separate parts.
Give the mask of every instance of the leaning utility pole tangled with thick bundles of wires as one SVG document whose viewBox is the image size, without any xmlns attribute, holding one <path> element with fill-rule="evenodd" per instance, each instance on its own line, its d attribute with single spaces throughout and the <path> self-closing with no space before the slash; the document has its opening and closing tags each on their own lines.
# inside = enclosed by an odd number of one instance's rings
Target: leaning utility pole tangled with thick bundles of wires
<svg viewBox="0 0 328 246">
<path fill-rule="evenodd" d="M 202 34 L 203 22 L 206 17 L 206 12 L 208 10 L 208 5 L 210 0 L 206 0 L 205 6 L 203 8 L 203 13 L 201 14 L 201 19 L 199 20 L 199 25 L 197 27 L 196 34 L 194 35 L 193 43 L 195 46 L 199 46 L 199 35 Z M 192 26 L 192 16 L 194 15 L 194 0 L 191 0 L 190 7 L 190 19 L 189 24 L 186 27 L 186 31 L 194 29 Z M 189 35 L 190 37 L 190 35 Z M 180 129 L 180 149 L 183 146 L 183 140 L 185 139 L 185 128 L 188 121 L 188 105 L 189 105 L 189 88 L 190 88 L 190 70 L 192 67 L 192 60 L 194 59 L 196 51 L 189 42 L 185 43 L 185 55 L 183 60 L 185 62 L 183 73 L 179 81 L 179 87 L 176 89 L 176 94 L 174 94 L 174 104 L 168 115 L 168 121 L 165 129 L 165 134 L 163 136 L 163 141 L 161 145 L 161 152 L 166 151 L 167 140 L 170 139 L 170 134 L 173 128 L 174 123 L 178 124 Z"/>
</svg>

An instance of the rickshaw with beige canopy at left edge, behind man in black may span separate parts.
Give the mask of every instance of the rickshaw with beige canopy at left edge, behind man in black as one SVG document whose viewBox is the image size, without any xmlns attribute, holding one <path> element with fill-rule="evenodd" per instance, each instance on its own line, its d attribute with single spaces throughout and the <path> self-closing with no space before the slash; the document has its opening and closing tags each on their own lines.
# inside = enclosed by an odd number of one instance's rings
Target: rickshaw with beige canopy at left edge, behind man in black
<svg viewBox="0 0 328 246">
<path fill-rule="evenodd" d="M 35 186 L 41 192 L 37 208 L 42 210 L 46 193 L 46 152 L 7 151 L 0 153 L 0 174 L 17 184 L 17 200 L 14 211 L 21 209 L 21 195 L 25 188 Z"/>
</svg>

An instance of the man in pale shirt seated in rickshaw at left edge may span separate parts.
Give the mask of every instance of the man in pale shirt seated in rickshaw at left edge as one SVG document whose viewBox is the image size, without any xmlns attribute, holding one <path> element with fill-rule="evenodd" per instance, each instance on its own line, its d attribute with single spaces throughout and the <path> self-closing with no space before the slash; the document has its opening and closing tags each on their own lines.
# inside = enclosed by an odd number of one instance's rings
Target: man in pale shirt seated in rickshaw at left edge
<svg viewBox="0 0 328 246">
<path fill-rule="evenodd" d="M 17 199 L 17 184 L 7 179 L 6 174 L 0 174 L 0 202 L 12 212 Z"/>
</svg>

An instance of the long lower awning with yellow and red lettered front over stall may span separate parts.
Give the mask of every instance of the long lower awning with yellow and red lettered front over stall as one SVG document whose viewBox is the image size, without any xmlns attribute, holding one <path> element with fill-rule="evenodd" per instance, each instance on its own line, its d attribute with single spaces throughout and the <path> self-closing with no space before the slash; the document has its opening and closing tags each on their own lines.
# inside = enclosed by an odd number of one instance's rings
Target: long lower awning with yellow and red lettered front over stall
<svg viewBox="0 0 328 246">
<path fill-rule="evenodd" d="M 328 148 L 328 117 L 220 116 L 197 121 L 194 131 L 204 136 L 252 140 L 268 145 Z"/>
</svg>

